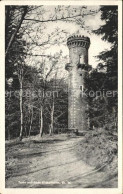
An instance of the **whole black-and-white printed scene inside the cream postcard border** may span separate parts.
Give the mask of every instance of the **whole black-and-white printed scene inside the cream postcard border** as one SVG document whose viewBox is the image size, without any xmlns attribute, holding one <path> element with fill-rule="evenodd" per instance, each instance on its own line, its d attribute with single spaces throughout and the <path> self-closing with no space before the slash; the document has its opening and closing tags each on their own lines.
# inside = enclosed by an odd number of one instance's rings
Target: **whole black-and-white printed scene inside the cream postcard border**
<svg viewBox="0 0 123 194">
<path fill-rule="evenodd" d="M 118 189 L 118 4 L 4 8 L 5 188 Z"/>
</svg>

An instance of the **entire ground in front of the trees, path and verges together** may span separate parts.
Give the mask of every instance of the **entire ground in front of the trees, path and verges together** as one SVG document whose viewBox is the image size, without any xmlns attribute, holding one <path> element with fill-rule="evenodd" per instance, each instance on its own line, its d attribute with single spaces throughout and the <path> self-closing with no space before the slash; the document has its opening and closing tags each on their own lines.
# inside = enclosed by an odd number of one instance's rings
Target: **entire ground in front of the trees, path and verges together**
<svg viewBox="0 0 123 194">
<path fill-rule="evenodd" d="M 83 142 L 69 134 L 6 141 L 6 188 L 116 188 L 116 157 L 90 165 Z"/>
</svg>

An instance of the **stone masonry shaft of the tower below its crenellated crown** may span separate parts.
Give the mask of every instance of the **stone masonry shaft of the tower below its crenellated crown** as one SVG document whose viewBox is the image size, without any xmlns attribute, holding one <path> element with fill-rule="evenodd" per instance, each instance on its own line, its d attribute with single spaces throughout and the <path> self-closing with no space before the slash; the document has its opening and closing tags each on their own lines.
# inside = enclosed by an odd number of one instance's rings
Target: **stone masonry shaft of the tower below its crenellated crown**
<svg viewBox="0 0 123 194">
<path fill-rule="evenodd" d="M 87 99 L 82 96 L 85 89 L 85 76 L 87 71 L 78 69 L 78 63 L 88 65 L 88 48 L 73 45 L 69 47 L 70 66 L 68 83 L 68 128 L 78 131 L 87 130 Z M 80 61 L 81 57 L 81 61 Z"/>
</svg>

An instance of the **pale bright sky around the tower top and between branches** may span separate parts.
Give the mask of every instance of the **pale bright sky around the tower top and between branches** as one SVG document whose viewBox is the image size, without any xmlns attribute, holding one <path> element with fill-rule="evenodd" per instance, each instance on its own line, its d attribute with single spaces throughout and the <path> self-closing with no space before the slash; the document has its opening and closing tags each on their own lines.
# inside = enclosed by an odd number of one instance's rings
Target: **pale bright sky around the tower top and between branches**
<svg viewBox="0 0 123 194">
<path fill-rule="evenodd" d="M 43 19 L 46 20 L 49 15 L 50 17 L 52 17 L 52 15 L 54 14 L 54 6 L 46 6 L 45 7 L 45 11 L 44 14 L 42 14 L 42 18 L 41 18 L 41 14 L 40 14 L 40 10 L 39 13 L 36 14 L 32 14 L 30 17 L 31 18 L 36 18 L 36 19 Z M 62 9 L 65 9 L 64 7 L 62 7 Z M 72 7 L 73 9 L 73 7 Z M 73 10 L 77 9 L 78 11 L 80 10 L 80 7 L 77 6 L 75 7 Z M 99 6 L 87 6 L 87 11 L 89 9 L 93 9 L 93 10 L 98 10 Z M 65 13 L 65 12 L 64 12 Z M 95 34 L 91 33 L 91 30 L 95 30 L 98 29 L 101 25 L 104 24 L 104 22 L 100 19 L 101 13 L 97 12 L 94 16 L 92 15 L 87 15 L 84 17 L 84 28 L 82 28 L 81 25 L 78 25 L 76 22 L 64 22 L 64 21 L 57 21 L 57 22 L 47 22 L 45 23 L 45 29 L 42 30 L 41 32 L 39 32 L 38 36 L 37 36 L 37 41 L 38 43 L 42 42 L 42 40 L 45 40 L 45 38 L 47 37 L 47 35 L 52 35 L 54 33 L 54 31 L 56 29 L 58 29 L 58 38 L 59 36 L 63 36 L 66 35 L 66 39 L 65 39 L 65 43 L 61 43 L 61 44 L 54 44 L 54 45 L 50 45 L 49 47 L 37 47 L 35 49 L 33 49 L 33 53 L 34 54 L 48 54 L 48 55 L 53 55 L 56 52 L 60 52 L 60 50 L 62 51 L 62 55 L 63 56 L 67 56 L 66 61 L 59 61 L 59 66 L 62 69 L 63 74 L 66 73 L 65 70 L 65 64 L 69 62 L 69 49 L 67 47 L 67 36 L 72 36 L 72 35 L 84 35 L 84 36 L 88 36 L 90 38 L 91 44 L 90 44 L 90 48 L 89 48 L 89 65 L 92 65 L 93 68 L 95 68 L 97 66 L 97 64 L 99 63 L 98 59 L 95 57 L 97 56 L 100 52 L 106 50 L 106 49 L 110 49 L 110 44 L 108 42 L 105 42 L 101 39 L 101 36 L 97 36 Z M 61 17 L 59 12 L 57 13 L 57 17 Z M 65 16 L 64 16 L 65 17 Z M 42 29 L 43 25 L 42 23 L 37 23 L 34 26 L 34 29 Z M 64 32 L 66 34 L 64 34 Z M 41 34 L 42 33 L 42 34 Z M 34 31 L 31 36 L 35 37 L 36 31 Z M 55 37 L 56 38 L 56 37 Z M 47 39 L 47 38 L 46 38 Z M 58 40 L 59 42 L 59 40 Z M 43 50 L 42 50 L 43 49 Z M 40 60 L 40 59 L 38 59 Z M 61 70 L 60 70 L 61 71 Z"/>
</svg>

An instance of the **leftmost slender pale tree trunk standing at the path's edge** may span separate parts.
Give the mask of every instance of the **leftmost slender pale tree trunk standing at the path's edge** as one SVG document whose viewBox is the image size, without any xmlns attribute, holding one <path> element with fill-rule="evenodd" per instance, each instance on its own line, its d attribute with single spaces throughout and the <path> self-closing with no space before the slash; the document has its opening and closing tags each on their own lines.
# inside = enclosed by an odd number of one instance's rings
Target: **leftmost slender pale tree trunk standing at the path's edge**
<svg viewBox="0 0 123 194">
<path fill-rule="evenodd" d="M 20 80 L 20 114 L 21 114 L 21 129 L 20 129 L 20 141 L 23 136 L 23 88 L 22 88 L 22 80 Z"/>
</svg>

